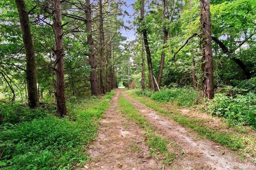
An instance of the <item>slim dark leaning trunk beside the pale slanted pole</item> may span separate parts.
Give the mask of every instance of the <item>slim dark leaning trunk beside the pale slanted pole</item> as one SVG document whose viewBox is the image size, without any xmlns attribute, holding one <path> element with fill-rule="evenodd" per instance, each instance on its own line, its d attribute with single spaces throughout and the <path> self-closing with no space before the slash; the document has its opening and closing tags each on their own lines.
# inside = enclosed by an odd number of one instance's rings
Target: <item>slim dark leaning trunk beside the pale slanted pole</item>
<svg viewBox="0 0 256 170">
<path fill-rule="evenodd" d="M 145 21 L 144 21 L 144 0 L 141 0 L 140 3 L 141 3 L 141 8 L 140 8 L 141 22 L 145 23 Z M 144 40 L 144 45 L 145 45 L 146 55 L 147 55 L 150 88 L 151 88 L 151 91 L 155 91 L 151 54 L 150 54 L 150 49 L 149 49 L 149 45 L 148 45 L 148 37 L 147 37 L 146 29 L 142 30 L 142 35 L 143 35 L 143 40 Z"/>
</svg>

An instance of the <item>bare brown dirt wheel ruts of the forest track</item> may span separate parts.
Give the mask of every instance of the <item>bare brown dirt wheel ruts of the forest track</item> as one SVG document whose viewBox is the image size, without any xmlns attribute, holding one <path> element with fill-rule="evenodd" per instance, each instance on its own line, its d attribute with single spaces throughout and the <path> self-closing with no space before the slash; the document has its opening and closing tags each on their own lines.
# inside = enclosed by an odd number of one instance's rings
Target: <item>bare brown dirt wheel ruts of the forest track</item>
<svg viewBox="0 0 256 170">
<path fill-rule="evenodd" d="M 82 170 L 256 170 L 254 164 L 240 162 L 229 149 L 197 138 L 194 131 L 130 98 L 124 89 L 115 93 L 101 121 L 98 138 L 88 147 L 92 160 Z M 179 146 L 183 154 L 177 153 L 172 164 L 164 164 L 157 155 L 151 156 L 149 147 L 144 142 L 138 143 L 144 140 L 144 129 L 120 113 L 120 93 L 150 122 L 157 135 Z M 184 111 L 189 113 L 187 109 Z"/>
</svg>

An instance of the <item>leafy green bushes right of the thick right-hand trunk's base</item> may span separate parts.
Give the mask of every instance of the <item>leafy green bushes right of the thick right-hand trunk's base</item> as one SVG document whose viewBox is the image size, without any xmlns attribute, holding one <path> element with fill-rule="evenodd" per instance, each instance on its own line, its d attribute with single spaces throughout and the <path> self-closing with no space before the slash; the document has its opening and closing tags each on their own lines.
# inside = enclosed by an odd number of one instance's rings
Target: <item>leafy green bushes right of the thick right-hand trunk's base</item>
<svg viewBox="0 0 256 170">
<path fill-rule="evenodd" d="M 256 94 L 237 94 L 236 98 L 216 94 L 209 101 L 209 109 L 212 115 L 227 117 L 242 125 L 256 127 Z"/>
</svg>

